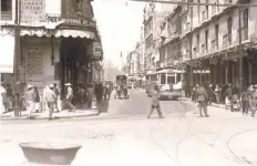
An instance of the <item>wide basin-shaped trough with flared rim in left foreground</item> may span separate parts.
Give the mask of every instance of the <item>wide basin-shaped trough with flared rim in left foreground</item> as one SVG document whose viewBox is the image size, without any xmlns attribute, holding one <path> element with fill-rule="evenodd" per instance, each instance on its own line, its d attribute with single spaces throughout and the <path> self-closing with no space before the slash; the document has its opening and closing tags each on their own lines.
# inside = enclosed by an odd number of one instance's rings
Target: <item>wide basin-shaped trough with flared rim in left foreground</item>
<svg viewBox="0 0 257 166">
<path fill-rule="evenodd" d="M 82 147 L 76 144 L 53 142 L 21 143 L 19 146 L 29 163 L 40 165 L 71 165 Z"/>
</svg>

